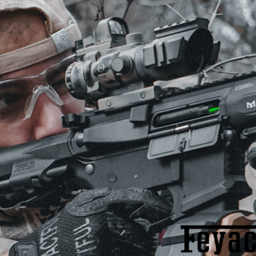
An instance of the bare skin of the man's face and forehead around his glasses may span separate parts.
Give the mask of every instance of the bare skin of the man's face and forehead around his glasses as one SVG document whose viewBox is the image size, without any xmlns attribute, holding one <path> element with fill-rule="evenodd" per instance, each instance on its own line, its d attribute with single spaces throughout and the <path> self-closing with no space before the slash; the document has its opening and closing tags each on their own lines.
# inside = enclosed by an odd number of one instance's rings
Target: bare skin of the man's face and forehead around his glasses
<svg viewBox="0 0 256 256">
<path fill-rule="evenodd" d="M 46 27 L 43 18 L 36 14 L 16 12 L 11 15 L 6 13 L 0 16 L 0 33 L 0 54 L 4 54 L 34 42 L 42 41 L 46 38 Z M 66 55 L 68 54 L 66 53 Z M 40 74 L 42 70 L 64 57 L 62 54 L 62 56 L 47 59 L 22 70 L 0 74 L 0 81 Z M 5 89 L 1 89 L 0 108 L 5 94 Z M 9 107 L 11 107 L 11 104 Z M 0 124 L 0 148 L 66 133 L 68 129 L 62 128 L 62 115 L 78 114 L 83 111 L 84 101 L 74 99 L 69 104 L 58 106 L 45 93 L 40 94 L 30 118 L 18 122 Z"/>
</svg>

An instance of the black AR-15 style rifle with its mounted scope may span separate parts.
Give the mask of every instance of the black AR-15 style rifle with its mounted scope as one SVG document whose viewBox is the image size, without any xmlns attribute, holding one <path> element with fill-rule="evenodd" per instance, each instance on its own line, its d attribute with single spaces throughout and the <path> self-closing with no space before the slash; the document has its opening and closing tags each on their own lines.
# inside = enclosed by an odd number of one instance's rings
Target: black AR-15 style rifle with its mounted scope
<svg viewBox="0 0 256 256">
<path fill-rule="evenodd" d="M 99 23 L 77 42 L 78 62 L 66 71 L 70 93 L 100 98 L 98 110 L 64 117 L 67 134 L 2 150 L 2 197 L 20 200 L 57 186 L 147 188 L 173 201 L 168 225 L 218 223 L 238 210 L 250 194 L 244 152 L 256 134 L 256 74 L 186 90 L 152 86 L 216 61 L 219 44 L 207 25 L 199 18 L 164 26 L 144 45 L 119 18 Z M 184 249 L 174 226 L 156 255 Z"/>
</svg>

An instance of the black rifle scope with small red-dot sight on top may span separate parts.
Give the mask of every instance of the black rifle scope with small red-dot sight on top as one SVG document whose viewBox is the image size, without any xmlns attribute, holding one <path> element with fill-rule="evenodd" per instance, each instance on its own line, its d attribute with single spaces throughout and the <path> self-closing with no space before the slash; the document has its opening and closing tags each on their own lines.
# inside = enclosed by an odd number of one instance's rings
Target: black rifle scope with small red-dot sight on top
<svg viewBox="0 0 256 256">
<path fill-rule="evenodd" d="M 197 18 L 163 26 L 154 30 L 153 42 L 144 44 L 142 34 L 129 34 L 121 18 L 103 20 L 81 42 L 78 62 L 66 70 L 66 86 L 75 98 L 101 98 L 196 74 L 213 58 L 208 23 Z"/>
</svg>

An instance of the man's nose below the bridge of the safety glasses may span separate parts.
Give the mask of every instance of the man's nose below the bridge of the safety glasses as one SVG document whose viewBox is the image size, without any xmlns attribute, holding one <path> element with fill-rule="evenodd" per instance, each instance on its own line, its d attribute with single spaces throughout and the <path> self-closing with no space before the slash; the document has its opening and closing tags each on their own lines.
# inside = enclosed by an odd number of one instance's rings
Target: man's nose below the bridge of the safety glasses
<svg viewBox="0 0 256 256">
<path fill-rule="evenodd" d="M 64 134 L 69 129 L 62 127 L 62 106 L 56 105 L 48 96 L 40 94 L 31 115 L 34 139 Z"/>
</svg>

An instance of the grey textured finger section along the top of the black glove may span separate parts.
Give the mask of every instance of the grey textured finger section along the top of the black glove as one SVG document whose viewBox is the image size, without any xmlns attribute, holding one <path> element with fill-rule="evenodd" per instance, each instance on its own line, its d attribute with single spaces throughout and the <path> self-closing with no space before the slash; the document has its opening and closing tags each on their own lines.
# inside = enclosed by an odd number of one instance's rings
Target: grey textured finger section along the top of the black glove
<svg viewBox="0 0 256 256">
<path fill-rule="evenodd" d="M 140 207 L 141 209 L 138 210 Z M 111 190 L 104 188 L 79 194 L 75 200 L 66 206 L 66 209 L 75 216 L 87 216 L 104 210 L 111 210 L 122 218 L 130 218 L 130 214 L 134 214 L 134 218 L 143 215 L 154 221 L 154 218 L 158 220 L 168 216 L 172 210 L 172 205 L 165 199 L 151 193 L 150 190 L 137 188 Z"/>
</svg>

